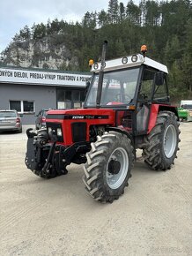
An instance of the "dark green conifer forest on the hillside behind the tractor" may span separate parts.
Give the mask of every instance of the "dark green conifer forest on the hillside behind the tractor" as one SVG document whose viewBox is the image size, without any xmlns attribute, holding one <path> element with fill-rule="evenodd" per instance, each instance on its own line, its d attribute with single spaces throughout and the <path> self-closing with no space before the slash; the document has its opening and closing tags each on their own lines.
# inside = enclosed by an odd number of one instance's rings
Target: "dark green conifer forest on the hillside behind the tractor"
<svg viewBox="0 0 192 256">
<path fill-rule="evenodd" d="M 50 37 L 53 47 L 64 44 L 78 57 L 76 71 L 88 71 L 88 61 L 100 58 L 102 43 L 108 41 L 107 59 L 138 53 L 146 44 L 147 56 L 166 64 L 171 95 L 192 97 L 192 4 L 189 0 L 145 1 L 123 4 L 109 0 L 107 10 L 87 11 L 81 22 L 49 20 L 25 26 L 15 41 L 38 41 Z M 3 56 L 9 51 L 4 50 Z M 74 70 L 61 65 L 60 69 Z"/>
</svg>

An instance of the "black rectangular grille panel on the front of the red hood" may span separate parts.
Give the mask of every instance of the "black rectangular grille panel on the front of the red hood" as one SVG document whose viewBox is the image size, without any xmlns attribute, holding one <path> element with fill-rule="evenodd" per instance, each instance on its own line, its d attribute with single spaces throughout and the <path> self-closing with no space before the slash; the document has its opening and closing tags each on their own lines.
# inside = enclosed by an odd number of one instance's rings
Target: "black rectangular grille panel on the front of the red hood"
<svg viewBox="0 0 192 256">
<path fill-rule="evenodd" d="M 71 124 L 73 142 L 86 140 L 86 123 L 76 122 Z"/>
</svg>

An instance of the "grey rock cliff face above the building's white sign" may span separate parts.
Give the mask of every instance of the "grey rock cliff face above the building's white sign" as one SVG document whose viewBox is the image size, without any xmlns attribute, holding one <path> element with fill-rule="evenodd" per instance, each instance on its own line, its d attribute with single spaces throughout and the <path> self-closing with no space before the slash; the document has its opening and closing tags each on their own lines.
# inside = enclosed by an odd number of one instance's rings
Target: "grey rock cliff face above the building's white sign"
<svg viewBox="0 0 192 256">
<path fill-rule="evenodd" d="M 78 70 L 78 57 L 64 43 L 55 45 L 53 37 L 13 41 L 5 49 L 1 64 L 42 69 Z"/>
</svg>

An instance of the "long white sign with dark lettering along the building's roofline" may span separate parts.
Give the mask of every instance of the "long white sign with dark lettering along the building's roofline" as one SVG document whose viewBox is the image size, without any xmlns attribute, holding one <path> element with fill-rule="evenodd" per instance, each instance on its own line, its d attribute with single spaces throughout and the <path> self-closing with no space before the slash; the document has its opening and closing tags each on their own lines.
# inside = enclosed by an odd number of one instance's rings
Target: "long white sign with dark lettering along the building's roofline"
<svg viewBox="0 0 192 256">
<path fill-rule="evenodd" d="M 85 87 L 91 75 L 67 72 L 40 72 L 0 68 L 0 82 L 16 84 L 38 84 L 44 86 Z"/>
</svg>

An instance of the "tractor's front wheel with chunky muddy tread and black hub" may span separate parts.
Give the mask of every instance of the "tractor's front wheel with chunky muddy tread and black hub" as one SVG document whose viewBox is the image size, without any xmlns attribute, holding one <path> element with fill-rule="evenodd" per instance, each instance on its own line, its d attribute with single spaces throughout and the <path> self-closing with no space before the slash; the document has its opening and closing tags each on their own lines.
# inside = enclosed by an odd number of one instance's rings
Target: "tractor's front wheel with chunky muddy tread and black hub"
<svg viewBox="0 0 192 256">
<path fill-rule="evenodd" d="M 130 139 L 119 132 L 105 132 L 92 143 L 86 157 L 83 177 L 86 191 L 100 202 L 118 200 L 128 186 L 134 165 Z"/>
</svg>

